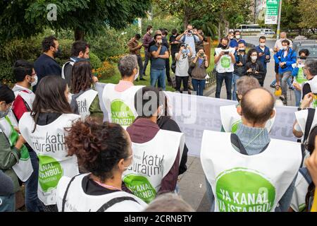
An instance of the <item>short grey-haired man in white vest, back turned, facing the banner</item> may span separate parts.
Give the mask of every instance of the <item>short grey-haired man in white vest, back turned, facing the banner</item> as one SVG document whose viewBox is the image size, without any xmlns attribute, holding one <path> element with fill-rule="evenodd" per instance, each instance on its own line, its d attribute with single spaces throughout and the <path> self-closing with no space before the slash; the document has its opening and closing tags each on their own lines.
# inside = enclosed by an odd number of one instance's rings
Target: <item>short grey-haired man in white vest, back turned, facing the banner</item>
<svg viewBox="0 0 317 226">
<path fill-rule="evenodd" d="M 105 85 L 102 93 L 102 100 L 108 112 L 108 120 L 120 124 L 125 129 L 137 118 L 135 93 L 144 87 L 144 85 L 133 85 L 139 76 L 137 66 L 135 55 L 121 57 L 118 63 L 121 80 L 117 85 L 111 83 Z"/>
</svg>

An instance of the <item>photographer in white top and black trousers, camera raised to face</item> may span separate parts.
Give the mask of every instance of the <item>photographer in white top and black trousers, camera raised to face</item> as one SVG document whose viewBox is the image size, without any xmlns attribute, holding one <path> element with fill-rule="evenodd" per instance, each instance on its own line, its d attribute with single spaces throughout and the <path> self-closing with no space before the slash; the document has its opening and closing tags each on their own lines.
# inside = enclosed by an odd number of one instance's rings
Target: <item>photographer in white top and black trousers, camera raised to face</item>
<svg viewBox="0 0 317 226">
<path fill-rule="evenodd" d="M 192 57 L 192 48 L 188 44 L 180 44 L 180 51 L 175 54 L 176 70 L 175 81 L 176 91 L 180 92 L 180 86 L 183 85 L 184 91 L 188 91 L 188 69 L 189 59 Z"/>
</svg>

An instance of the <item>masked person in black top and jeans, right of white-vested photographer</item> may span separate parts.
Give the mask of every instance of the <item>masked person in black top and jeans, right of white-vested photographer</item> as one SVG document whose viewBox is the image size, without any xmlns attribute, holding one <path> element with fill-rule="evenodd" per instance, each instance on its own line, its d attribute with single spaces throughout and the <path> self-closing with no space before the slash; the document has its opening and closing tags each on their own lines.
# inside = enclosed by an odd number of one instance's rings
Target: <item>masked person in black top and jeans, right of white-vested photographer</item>
<svg viewBox="0 0 317 226">
<path fill-rule="evenodd" d="M 239 42 L 237 52 L 235 52 L 235 71 L 233 71 L 232 100 L 237 100 L 237 79 L 245 75 L 245 64 L 247 64 L 245 44 L 244 42 Z"/>
</svg>

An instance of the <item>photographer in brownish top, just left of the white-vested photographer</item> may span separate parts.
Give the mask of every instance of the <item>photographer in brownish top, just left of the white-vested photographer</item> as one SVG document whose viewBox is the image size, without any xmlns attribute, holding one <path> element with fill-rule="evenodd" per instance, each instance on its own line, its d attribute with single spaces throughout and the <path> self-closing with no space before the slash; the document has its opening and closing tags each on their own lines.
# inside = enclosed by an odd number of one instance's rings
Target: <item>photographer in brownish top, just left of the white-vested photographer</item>
<svg viewBox="0 0 317 226">
<path fill-rule="evenodd" d="M 197 52 L 197 56 L 192 61 L 190 66 L 192 69 L 192 86 L 194 87 L 194 91 L 197 92 L 197 95 L 204 95 L 204 88 L 206 85 L 206 76 L 209 67 L 208 57 L 204 52 L 204 48 L 199 49 Z"/>
</svg>

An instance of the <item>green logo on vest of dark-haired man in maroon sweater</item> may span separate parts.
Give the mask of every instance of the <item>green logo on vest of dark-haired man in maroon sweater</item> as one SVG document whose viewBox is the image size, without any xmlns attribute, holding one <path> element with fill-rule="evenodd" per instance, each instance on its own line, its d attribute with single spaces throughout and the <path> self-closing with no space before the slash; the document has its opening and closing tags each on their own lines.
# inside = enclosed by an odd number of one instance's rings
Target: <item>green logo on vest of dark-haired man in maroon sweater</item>
<svg viewBox="0 0 317 226">
<path fill-rule="evenodd" d="M 129 174 L 123 178 L 123 182 L 125 182 L 125 186 L 127 186 L 135 196 L 141 198 L 146 203 L 150 203 L 156 197 L 156 190 L 147 177 Z"/>
</svg>

